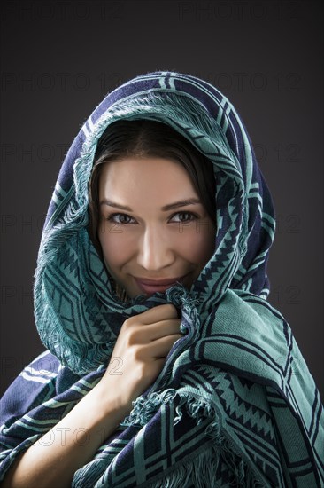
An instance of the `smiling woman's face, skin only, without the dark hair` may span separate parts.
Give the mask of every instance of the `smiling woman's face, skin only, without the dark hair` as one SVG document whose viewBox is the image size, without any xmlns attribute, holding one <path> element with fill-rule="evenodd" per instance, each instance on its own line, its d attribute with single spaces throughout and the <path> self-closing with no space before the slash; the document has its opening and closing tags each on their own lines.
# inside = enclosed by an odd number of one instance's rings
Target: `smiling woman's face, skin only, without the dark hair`
<svg viewBox="0 0 324 488">
<path fill-rule="evenodd" d="M 129 157 L 104 164 L 98 238 L 127 295 L 192 283 L 214 252 L 215 227 L 180 163 Z"/>
</svg>

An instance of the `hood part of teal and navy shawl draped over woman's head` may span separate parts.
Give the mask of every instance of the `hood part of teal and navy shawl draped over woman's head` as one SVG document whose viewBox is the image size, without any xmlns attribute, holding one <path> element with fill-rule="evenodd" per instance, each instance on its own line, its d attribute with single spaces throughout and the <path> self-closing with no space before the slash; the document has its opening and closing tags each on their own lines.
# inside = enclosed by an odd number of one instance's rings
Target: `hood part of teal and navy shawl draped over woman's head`
<svg viewBox="0 0 324 488">
<path fill-rule="evenodd" d="M 212 161 L 216 178 L 215 251 L 190 290 L 123 303 L 87 231 L 89 177 L 98 139 L 112 122 L 164 122 Z M 197 325 L 227 292 L 268 295 L 266 262 L 274 239 L 271 195 L 235 107 L 191 75 L 140 75 L 104 98 L 74 139 L 58 175 L 35 272 L 35 319 L 45 346 L 77 374 L 111 357 L 123 321 L 161 303 L 195 309 Z"/>
</svg>

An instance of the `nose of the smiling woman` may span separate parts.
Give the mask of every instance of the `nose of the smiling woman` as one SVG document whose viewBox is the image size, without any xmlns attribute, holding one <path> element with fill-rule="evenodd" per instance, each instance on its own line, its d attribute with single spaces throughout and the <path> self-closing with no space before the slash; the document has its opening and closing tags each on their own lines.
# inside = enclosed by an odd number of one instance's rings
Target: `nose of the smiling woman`
<svg viewBox="0 0 324 488">
<path fill-rule="evenodd" d="M 147 226 L 138 243 L 137 263 L 145 270 L 158 271 L 174 263 L 174 251 L 163 229 Z"/>
</svg>

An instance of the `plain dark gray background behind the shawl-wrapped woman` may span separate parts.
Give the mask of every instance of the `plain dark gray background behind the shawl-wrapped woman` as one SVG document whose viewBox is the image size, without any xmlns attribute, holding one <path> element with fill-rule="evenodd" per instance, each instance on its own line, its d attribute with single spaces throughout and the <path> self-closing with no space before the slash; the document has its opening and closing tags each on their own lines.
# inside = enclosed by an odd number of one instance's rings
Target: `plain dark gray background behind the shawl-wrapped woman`
<svg viewBox="0 0 324 488">
<path fill-rule="evenodd" d="M 43 350 L 32 284 L 66 148 L 107 91 L 198 75 L 243 117 L 274 196 L 269 301 L 323 397 L 322 7 L 314 1 L 2 3 L 2 390 Z"/>
</svg>

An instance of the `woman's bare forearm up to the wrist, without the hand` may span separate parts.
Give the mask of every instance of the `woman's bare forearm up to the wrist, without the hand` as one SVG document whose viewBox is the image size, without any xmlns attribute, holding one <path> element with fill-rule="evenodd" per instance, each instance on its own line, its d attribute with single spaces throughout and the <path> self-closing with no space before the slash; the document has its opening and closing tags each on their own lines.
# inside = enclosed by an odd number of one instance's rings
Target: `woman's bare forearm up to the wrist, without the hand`
<svg viewBox="0 0 324 488">
<path fill-rule="evenodd" d="M 19 456 L 4 478 L 4 488 L 71 486 L 74 472 L 117 429 L 127 410 L 105 402 L 94 388 L 66 417 Z"/>
</svg>

